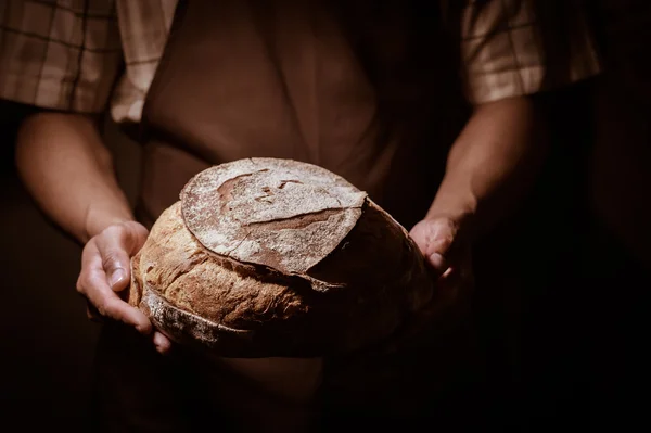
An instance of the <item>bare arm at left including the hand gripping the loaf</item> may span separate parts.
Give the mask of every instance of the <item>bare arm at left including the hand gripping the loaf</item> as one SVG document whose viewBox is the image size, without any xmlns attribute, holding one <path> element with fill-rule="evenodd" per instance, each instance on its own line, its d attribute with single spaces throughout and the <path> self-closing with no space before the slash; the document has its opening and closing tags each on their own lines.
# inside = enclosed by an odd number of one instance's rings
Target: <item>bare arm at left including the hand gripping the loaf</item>
<svg viewBox="0 0 651 433">
<path fill-rule="evenodd" d="M 148 231 L 133 221 L 93 118 L 29 117 L 18 131 L 16 164 L 44 213 L 85 244 L 77 291 L 89 301 L 89 315 L 122 321 L 152 335 L 159 352 L 169 349 L 163 334 L 152 333 L 146 316 L 118 295 L 129 285 L 130 257 Z"/>
</svg>

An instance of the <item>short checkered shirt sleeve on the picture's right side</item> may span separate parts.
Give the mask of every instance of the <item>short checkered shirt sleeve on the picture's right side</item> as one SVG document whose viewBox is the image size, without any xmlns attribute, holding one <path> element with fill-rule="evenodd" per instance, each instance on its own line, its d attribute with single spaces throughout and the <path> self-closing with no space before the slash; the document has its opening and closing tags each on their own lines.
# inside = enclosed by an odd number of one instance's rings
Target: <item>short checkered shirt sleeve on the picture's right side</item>
<svg viewBox="0 0 651 433">
<path fill-rule="evenodd" d="M 598 74 L 580 7 L 563 1 L 464 0 L 460 43 L 471 103 L 532 94 Z"/>
</svg>

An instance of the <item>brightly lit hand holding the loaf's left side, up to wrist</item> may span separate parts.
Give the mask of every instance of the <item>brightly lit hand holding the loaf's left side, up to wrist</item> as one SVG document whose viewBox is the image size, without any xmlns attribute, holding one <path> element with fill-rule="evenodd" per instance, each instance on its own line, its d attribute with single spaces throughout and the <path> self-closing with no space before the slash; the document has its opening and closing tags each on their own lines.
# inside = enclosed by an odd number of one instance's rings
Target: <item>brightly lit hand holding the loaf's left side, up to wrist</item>
<svg viewBox="0 0 651 433">
<path fill-rule="evenodd" d="M 170 341 L 154 330 L 146 316 L 120 297 L 129 286 L 130 258 L 144 244 L 148 230 L 136 221 L 108 226 L 91 238 L 81 255 L 81 272 L 77 291 L 89 303 L 89 318 L 117 320 L 136 328 L 143 335 L 152 335 L 159 353 L 170 348 Z"/>
</svg>

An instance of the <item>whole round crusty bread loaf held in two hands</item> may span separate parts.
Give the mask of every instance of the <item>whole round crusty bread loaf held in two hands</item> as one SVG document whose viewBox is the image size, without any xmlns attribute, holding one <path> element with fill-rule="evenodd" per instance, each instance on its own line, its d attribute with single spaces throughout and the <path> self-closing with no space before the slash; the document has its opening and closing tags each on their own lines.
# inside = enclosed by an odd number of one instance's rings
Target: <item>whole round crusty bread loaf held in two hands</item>
<svg viewBox="0 0 651 433">
<path fill-rule="evenodd" d="M 173 340 L 222 357 L 356 351 L 433 297 L 398 222 L 343 178 L 289 160 L 197 174 L 131 268 L 131 305 Z"/>
</svg>

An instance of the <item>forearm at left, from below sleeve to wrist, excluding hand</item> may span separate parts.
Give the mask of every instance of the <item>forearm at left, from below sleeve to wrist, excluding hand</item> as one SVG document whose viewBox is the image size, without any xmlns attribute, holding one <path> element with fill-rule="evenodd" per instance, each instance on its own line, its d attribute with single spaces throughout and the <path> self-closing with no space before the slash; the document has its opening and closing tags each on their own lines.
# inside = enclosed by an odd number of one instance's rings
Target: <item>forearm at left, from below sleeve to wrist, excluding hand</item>
<svg viewBox="0 0 651 433">
<path fill-rule="evenodd" d="M 16 165 L 35 201 L 80 242 L 132 219 L 93 119 L 40 113 L 18 131 Z"/>
</svg>

